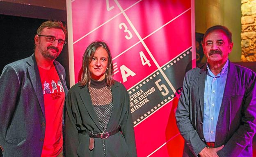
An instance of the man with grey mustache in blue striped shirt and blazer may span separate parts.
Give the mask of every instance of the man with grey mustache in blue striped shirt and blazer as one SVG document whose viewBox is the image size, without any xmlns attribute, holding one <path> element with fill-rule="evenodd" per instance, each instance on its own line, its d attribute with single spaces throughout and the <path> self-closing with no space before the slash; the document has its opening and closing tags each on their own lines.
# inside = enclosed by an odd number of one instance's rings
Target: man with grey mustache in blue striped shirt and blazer
<svg viewBox="0 0 256 157">
<path fill-rule="evenodd" d="M 256 132 L 256 74 L 228 59 L 233 43 L 224 26 L 203 37 L 207 63 L 185 74 L 176 110 L 183 157 L 252 157 Z"/>
</svg>

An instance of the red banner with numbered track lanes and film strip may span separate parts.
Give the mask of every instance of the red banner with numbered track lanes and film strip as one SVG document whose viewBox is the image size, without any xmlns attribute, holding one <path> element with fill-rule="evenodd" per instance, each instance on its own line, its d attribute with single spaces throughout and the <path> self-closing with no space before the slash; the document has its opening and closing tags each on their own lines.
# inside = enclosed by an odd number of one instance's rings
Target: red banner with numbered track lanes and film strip
<svg viewBox="0 0 256 157">
<path fill-rule="evenodd" d="M 138 157 L 181 156 L 175 110 L 195 64 L 194 1 L 68 0 L 67 15 L 71 85 L 87 46 L 105 41 L 130 94 Z"/>
</svg>

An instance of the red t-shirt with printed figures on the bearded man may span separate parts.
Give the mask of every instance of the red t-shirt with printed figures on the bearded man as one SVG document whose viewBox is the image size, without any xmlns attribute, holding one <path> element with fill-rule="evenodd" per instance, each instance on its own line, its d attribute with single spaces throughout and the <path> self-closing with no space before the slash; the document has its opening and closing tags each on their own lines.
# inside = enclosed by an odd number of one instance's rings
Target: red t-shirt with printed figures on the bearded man
<svg viewBox="0 0 256 157">
<path fill-rule="evenodd" d="M 41 157 L 56 157 L 63 149 L 62 119 L 65 92 L 55 66 L 38 66 L 44 99 L 46 130 Z"/>
</svg>

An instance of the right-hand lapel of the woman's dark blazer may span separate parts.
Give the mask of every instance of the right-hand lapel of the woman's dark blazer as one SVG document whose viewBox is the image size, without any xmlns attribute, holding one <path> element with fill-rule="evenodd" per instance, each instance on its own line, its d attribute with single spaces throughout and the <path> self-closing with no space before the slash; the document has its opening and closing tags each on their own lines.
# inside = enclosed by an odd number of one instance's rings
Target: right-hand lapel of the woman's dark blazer
<svg viewBox="0 0 256 157">
<path fill-rule="evenodd" d="M 119 112 L 119 108 L 121 106 L 121 102 L 120 102 L 120 88 L 117 84 L 112 85 L 111 87 L 111 92 L 112 92 L 112 101 L 113 101 L 113 109 L 112 109 L 112 113 L 111 113 L 111 117 L 110 117 L 110 121 L 107 124 L 107 131 L 112 131 L 109 130 L 110 128 L 112 128 L 112 125 L 115 121 L 117 121 L 117 113 Z"/>
</svg>

